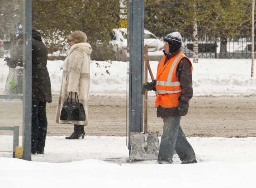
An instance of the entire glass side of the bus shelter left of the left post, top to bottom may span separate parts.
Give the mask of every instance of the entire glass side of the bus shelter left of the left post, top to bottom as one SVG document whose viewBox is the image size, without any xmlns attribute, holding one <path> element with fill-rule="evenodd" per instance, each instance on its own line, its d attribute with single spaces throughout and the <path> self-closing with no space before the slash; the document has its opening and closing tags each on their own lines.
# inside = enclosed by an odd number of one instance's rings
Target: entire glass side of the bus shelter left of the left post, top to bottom
<svg viewBox="0 0 256 188">
<path fill-rule="evenodd" d="M 0 135 L 13 135 L 13 131 L 7 130 L 13 126 L 19 126 L 22 135 L 23 3 L 24 0 L 0 0 Z M 10 139 L 10 143 L 4 144 L 7 148 L 0 147 L 0 156 L 8 155 L 1 151 L 12 151 L 12 144 Z"/>
</svg>

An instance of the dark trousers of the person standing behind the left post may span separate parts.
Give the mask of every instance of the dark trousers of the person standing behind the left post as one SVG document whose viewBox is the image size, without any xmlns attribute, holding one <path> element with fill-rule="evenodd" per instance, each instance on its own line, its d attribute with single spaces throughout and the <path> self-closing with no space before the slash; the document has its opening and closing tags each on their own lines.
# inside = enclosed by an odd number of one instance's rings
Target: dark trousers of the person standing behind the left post
<svg viewBox="0 0 256 188">
<path fill-rule="evenodd" d="M 48 125 L 46 102 L 38 102 L 32 99 L 31 110 L 31 153 L 44 152 Z"/>
</svg>

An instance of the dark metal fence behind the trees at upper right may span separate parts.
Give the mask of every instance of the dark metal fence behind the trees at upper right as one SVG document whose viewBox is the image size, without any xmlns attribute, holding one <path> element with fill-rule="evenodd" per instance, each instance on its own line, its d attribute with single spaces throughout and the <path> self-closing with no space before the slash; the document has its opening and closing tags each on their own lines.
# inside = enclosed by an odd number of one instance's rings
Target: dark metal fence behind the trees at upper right
<svg viewBox="0 0 256 188">
<path fill-rule="evenodd" d="M 201 39 L 198 41 L 198 58 L 210 59 L 251 59 L 251 38 L 239 37 L 227 39 L 227 51 L 220 53 L 220 39 L 217 41 Z M 255 56 L 254 47 L 254 56 Z M 184 38 L 183 52 L 193 58 L 193 40 Z"/>
</svg>

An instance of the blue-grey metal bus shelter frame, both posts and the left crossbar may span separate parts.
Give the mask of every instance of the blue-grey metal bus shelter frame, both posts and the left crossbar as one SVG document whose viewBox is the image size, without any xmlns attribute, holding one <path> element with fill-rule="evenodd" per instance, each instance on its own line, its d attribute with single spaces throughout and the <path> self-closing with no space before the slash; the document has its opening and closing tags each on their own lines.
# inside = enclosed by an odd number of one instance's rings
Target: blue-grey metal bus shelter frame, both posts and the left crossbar
<svg viewBox="0 0 256 188">
<path fill-rule="evenodd" d="M 17 1 L 20 2 L 21 8 L 18 9 L 19 12 L 15 15 L 19 16 L 19 20 L 13 28 L 17 27 L 18 23 L 23 24 L 23 67 L 20 67 L 23 70 L 22 94 L 0 95 L 0 99 L 22 100 L 23 159 L 31 160 L 32 0 Z M 126 145 L 130 150 L 130 132 L 142 132 L 143 130 L 141 86 L 144 81 L 142 76 L 144 72 L 144 0 L 127 0 L 126 4 L 128 31 Z M 12 21 L 7 21 L 6 24 L 10 22 Z M 11 32 L 7 35 L 11 35 Z"/>
</svg>

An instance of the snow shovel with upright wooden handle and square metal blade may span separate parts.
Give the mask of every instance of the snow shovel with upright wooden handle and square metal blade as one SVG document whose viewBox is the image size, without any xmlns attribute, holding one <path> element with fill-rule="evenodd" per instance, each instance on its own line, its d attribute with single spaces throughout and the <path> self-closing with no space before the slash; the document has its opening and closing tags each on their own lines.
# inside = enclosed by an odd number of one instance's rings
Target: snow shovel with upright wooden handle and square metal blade
<svg viewBox="0 0 256 188">
<path fill-rule="evenodd" d="M 147 84 L 148 46 L 145 45 L 145 84 Z M 157 160 L 159 139 L 157 132 L 147 130 L 147 90 L 144 95 L 144 132 L 130 133 L 130 160 Z"/>
</svg>

